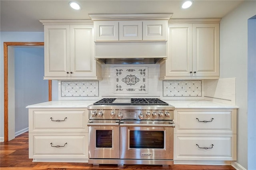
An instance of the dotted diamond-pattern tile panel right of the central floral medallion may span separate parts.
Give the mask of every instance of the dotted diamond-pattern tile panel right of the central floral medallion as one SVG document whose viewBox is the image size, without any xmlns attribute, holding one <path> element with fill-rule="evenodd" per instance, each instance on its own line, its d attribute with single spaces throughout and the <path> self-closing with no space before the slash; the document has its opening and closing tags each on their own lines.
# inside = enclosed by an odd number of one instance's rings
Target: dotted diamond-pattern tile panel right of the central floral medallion
<svg viewBox="0 0 256 170">
<path fill-rule="evenodd" d="M 202 97 L 201 80 L 163 81 L 164 97 Z"/>
</svg>

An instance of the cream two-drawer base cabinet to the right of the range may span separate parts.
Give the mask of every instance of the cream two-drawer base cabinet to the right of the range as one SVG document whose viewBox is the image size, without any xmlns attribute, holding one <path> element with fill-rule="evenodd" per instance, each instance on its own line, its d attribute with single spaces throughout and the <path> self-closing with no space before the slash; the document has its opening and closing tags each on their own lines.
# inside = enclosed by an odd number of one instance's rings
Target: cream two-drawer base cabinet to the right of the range
<svg viewBox="0 0 256 170">
<path fill-rule="evenodd" d="M 175 109 L 174 160 L 236 160 L 236 109 Z"/>
</svg>

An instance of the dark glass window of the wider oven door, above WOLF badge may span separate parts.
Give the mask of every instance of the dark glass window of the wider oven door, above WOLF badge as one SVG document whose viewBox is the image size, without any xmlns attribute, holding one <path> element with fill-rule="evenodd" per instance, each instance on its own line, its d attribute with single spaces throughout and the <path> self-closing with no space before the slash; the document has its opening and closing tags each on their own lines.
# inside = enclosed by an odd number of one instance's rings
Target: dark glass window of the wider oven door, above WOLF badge
<svg viewBox="0 0 256 170">
<path fill-rule="evenodd" d="M 130 130 L 130 148 L 164 148 L 164 131 Z"/>
</svg>

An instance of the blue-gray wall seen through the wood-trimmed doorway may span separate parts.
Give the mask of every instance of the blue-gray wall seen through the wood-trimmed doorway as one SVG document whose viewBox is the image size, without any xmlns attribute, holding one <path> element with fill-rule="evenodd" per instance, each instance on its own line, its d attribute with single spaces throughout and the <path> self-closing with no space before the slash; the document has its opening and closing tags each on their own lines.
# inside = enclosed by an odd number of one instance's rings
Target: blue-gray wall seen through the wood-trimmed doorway
<svg viewBox="0 0 256 170">
<path fill-rule="evenodd" d="M 48 101 L 44 77 L 44 47 L 14 47 L 15 133 L 28 128 L 28 105 Z M 20 133 L 19 133 L 20 132 Z"/>
</svg>

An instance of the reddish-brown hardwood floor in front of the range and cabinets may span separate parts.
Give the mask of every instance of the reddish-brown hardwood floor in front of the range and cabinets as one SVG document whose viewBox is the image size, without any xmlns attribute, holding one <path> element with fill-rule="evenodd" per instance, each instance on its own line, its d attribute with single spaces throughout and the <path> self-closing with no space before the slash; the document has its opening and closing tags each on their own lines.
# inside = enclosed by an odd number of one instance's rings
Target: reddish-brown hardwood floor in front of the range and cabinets
<svg viewBox="0 0 256 170">
<path fill-rule="evenodd" d="M 28 158 L 28 132 L 0 142 L 0 170 L 234 170 L 232 166 L 206 165 L 100 165 L 87 163 L 32 162 Z"/>
</svg>

